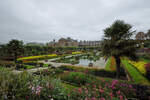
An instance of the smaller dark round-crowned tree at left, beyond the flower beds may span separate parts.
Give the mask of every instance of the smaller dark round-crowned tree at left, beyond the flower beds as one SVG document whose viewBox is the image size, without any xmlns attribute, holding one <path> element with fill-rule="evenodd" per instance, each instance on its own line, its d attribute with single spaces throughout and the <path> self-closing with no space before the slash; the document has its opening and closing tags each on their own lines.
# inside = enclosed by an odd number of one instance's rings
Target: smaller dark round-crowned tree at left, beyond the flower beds
<svg viewBox="0 0 150 100">
<path fill-rule="evenodd" d="M 11 40 L 7 44 L 8 53 L 13 56 L 15 63 L 17 62 L 17 57 L 24 53 L 23 42 L 19 40 Z"/>
</svg>

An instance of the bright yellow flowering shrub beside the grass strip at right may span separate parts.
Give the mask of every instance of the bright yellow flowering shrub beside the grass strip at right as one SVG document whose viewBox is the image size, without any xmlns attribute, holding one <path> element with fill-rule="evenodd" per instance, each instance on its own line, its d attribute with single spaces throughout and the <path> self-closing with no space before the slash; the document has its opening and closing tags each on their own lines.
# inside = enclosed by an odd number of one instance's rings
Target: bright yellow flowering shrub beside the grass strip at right
<svg viewBox="0 0 150 100">
<path fill-rule="evenodd" d="M 135 61 L 130 61 L 129 60 L 129 63 L 134 65 L 134 67 L 136 67 L 142 74 L 146 74 L 146 69 L 145 69 L 145 62 L 143 61 L 138 61 L 138 62 L 135 62 Z"/>
</svg>

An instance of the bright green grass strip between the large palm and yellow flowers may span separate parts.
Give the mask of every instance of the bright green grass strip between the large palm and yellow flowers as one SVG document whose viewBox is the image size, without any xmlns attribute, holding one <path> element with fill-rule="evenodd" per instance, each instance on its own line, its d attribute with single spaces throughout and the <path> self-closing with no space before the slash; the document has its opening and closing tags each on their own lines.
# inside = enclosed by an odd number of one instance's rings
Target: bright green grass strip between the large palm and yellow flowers
<svg viewBox="0 0 150 100">
<path fill-rule="evenodd" d="M 127 60 L 122 59 L 122 64 L 124 65 L 125 70 L 129 72 L 131 78 L 134 80 L 135 83 L 150 85 L 150 82 Z"/>
</svg>

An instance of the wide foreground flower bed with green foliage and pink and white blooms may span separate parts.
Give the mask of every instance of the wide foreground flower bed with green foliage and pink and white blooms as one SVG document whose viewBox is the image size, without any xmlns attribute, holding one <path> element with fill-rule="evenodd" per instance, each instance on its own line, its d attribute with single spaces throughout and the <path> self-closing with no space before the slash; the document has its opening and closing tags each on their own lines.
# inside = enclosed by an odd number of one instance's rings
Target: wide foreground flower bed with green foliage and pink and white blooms
<svg viewBox="0 0 150 100">
<path fill-rule="evenodd" d="M 137 91 L 134 85 L 126 81 L 91 77 L 79 72 L 73 72 L 68 78 L 67 76 L 65 77 L 66 81 L 82 84 L 80 87 L 72 86 L 63 83 L 57 77 L 48 76 L 48 74 L 46 76 L 41 74 L 34 76 L 23 72 L 15 75 L 8 71 L 0 71 L 0 99 L 126 100 L 140 98 L 141 100 L 148 100 L 148 96 L 143 95 L 145 89 Z M 140 96 L 137 92 L 139 92 Z"/>
</svg>

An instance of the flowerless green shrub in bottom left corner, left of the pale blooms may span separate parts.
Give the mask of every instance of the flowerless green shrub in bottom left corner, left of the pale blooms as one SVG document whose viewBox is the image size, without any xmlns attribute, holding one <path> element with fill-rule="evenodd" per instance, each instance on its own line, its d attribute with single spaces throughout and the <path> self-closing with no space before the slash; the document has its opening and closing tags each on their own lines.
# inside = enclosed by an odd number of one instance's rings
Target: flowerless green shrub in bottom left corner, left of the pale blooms
<svg viewBox="0 0 150 100">
<path fill-rule="evenodd" d="M 0 99 L 14 100 L 30 94 L 27 84 L 32 80 L 29 74 L 14 75 L 9 71 L 0 72 Z"/>
</svg>

